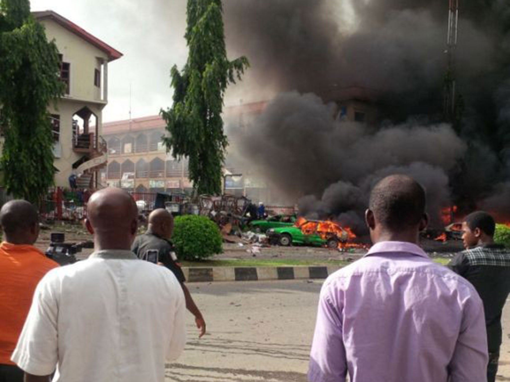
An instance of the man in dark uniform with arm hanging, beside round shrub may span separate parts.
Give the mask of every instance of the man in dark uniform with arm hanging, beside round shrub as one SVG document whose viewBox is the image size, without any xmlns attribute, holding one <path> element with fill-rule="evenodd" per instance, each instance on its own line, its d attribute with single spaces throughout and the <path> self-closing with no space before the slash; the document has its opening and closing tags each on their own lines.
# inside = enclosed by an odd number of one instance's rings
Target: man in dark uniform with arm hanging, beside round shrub
<svg viewBox="0 0 510 382">
<path fill-rule="evenodd" d="M 170 241 L 173 231 L 173 216 L 164 208 L 152 211 L 149 215 L 148 229 L 143 235 L 138 235 L 133 242 L 132 251 L 142 260 L 159 263 L 170 269 L 181 283 L 186 308 L 195 316 L 196 327 L 200 330 L 198 337 L 206 333 L 206 321 L 203 320 L 190 291 L 184 285 L 186 278 L 183 270 L 177 264 L 177 257 Z"/>
</svg>

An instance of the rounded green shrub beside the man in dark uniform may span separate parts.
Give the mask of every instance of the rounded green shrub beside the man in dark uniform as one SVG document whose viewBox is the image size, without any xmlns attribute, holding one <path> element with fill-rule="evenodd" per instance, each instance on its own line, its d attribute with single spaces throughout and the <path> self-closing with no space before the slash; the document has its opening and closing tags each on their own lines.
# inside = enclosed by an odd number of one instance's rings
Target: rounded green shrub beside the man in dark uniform
<svg viewBox="0 0 510 382">
<path fill-rule="evenodd" d="M 223 252 L 220 230 L 205 216 L 175 217 L 172 241 L 180 260 L 202 260 Z"/>
</svg>

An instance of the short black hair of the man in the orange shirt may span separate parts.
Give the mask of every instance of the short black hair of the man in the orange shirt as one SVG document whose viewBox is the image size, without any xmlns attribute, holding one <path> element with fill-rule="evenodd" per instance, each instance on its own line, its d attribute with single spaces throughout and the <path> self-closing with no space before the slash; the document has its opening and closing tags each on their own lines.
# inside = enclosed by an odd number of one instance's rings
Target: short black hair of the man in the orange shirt
<svg viewBox="0 0 510 382">
<path fill-rule="evenodd" d="M 7 235 L 30 229 L 38 222 L 36 208 L 26 200 L 11 200 L 0 210 L 0 225 Z"/>
</svg>

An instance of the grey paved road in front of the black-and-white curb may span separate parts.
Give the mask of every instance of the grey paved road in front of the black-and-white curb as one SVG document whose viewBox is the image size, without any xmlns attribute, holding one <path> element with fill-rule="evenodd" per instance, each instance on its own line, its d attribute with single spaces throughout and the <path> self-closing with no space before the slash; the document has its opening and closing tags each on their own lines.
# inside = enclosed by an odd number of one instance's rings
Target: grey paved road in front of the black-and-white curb
<svg viewBox="0 0 510 382">
<path fill-rule="evenodd" d="M 191 283 L 208 334 L 188 344 L 167 370 L 173 382 L 306 382 L 322 281 Z M 508 305 L 508 304 L 507 304 Z M 510 306 L 504 312 L 498 380 L 510 381 Z"/>
</svg>

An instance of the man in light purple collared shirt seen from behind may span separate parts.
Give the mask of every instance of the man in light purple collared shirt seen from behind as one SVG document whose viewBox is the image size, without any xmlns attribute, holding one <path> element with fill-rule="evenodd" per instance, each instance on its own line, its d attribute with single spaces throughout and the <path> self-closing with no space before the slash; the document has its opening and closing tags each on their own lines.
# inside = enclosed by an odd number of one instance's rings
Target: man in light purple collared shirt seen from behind
<svg viewBox="0 0 510 382">
<path fill-rule="evenodd" d="M 428 221 L 423 187 L 403 175 L 382 179 L 366 221 L 373 247 L 322 287 L 309 380 L 486 380 L 480 297 L 417 245 Z"/>
</svg>

